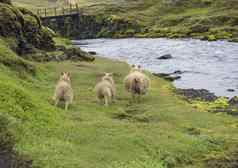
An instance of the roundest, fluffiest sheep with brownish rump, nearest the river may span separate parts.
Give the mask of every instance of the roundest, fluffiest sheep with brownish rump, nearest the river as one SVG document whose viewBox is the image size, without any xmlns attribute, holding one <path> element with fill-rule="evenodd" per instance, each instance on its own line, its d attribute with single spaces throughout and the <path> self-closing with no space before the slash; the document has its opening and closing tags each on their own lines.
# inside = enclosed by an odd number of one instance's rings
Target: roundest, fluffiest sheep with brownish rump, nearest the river
<svg viewBox="0 0 238 168">
<path fill-rule="evenodd" d="M 130 73 L 124 79 L 124 86 L 127 92 L 132 94 L 133 99 L 136 95 L 144 95 L 147 93 L 150 86 L 150 79 L 146 76 L 141 66 L 133 65 Z"/>
</svg>

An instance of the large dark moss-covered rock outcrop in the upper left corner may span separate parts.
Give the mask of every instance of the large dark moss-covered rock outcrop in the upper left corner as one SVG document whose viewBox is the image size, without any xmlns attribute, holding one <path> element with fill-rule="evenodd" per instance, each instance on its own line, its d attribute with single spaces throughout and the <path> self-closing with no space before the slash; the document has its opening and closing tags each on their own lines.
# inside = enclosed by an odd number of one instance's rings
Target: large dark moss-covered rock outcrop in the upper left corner
<svg viewBox="0 0 238 168">
<path fill-rule="evenodd" d="M 30 10 L 0 3 L 0 16 L 0 36 L 13 38 L 19 55 L 32 53 L 34 49 L 55 49 L 49 29 Z"/>
</svg>

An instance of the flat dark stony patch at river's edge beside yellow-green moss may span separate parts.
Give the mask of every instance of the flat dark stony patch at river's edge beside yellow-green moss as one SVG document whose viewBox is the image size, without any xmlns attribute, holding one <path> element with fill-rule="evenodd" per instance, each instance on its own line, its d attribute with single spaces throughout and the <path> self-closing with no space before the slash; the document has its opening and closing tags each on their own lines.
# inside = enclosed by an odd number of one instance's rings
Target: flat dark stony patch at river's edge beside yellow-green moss
<svg viewBox="0 0 238 168">
<path fill-rule="evenodd" d="M 176 89 L 176 93 L 188 99 L 215 101 L 218 97 L 206 89 Z"/>
</svg>

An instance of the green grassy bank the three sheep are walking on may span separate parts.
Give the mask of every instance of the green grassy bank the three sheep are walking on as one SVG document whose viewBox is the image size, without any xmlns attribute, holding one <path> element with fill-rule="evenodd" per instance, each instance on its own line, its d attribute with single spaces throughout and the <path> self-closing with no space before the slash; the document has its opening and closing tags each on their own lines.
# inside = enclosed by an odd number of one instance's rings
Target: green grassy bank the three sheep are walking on
<svg viewBox="0 0 238 168">
<path fill-rule="evenodd" d="M 0 55 L 10 52 L 4 43 L 0 47 L 5 47 Z M 198 168 L 237 145 L 237 118 L 194 109 L 170 83 L 151 74 L 149 94 L 139 104 L 131 102 L 123 89 L 129 71 L 123 62 L 97 58 L 34 65 L 35 75 L 24 76 L 0 66 L 0 112 L 11 121 L 15 150 L 32 158 L 34 167 Z M 72 74 L 75 93 L 68 111 L 51 101 L 62 71 Z M 103 72 L 115 74 L 118 90 L 108 108 L 94 93 Z"/>
</svg>

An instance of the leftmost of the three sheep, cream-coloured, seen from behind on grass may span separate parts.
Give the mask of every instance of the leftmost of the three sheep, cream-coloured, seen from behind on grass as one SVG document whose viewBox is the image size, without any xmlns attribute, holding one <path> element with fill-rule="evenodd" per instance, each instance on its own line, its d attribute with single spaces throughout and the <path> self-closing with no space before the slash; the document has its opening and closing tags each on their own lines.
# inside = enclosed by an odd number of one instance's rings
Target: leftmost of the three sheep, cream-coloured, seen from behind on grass
<svg viewBox="0 0 238 168">
<path fill-rule="evenodd" d="M 70 74 L 67 72 L 62 72 L 60 79 L 55 87 L 55 93 L 53 100 L 55 101 L 55 106 L 58 105 L 59 101 L 64 101 L 65 110 L 68 110 L 69 104 L 73 102 L 73 89 L 71 87 Z"/>
</svg>

